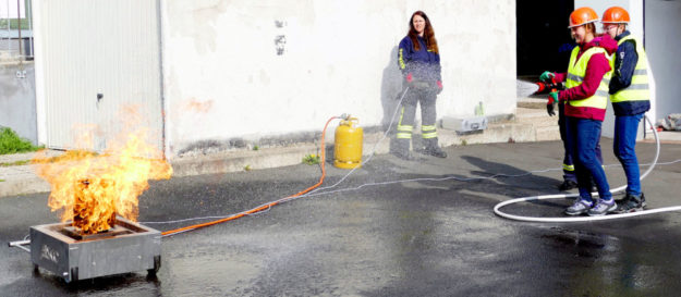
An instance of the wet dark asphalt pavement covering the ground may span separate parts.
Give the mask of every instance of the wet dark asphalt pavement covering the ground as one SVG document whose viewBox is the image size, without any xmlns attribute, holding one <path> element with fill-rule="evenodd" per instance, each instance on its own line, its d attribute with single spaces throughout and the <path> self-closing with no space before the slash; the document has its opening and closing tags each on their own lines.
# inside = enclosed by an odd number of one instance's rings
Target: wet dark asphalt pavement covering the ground
<svg viewBox="0 0 681 297">
<path fill-rule="evenodd" d="M 617 164 L 611 141 L 606 164 Z M 654 145 L 637 146 L 642 163 Z M 681 212 L 591 223 L 524 223 L 496 216 L 503 200 L 555 194 L 559 170 L 521 177 L 461 181 L 558 169 L 558 141 L 447 148 L 447 159 L 377 156 L 332 191 L 162 239 L 157 276 L 146 272 L 66 285 L 33 272 L 29 255 L 7 243 L 53 223 L 47 194 L 0 199 L 0 296 L 678 296 Z M 660 161 L 681 158 L 662 147 Z M 328 166 L 325 185 L 348 171 Z M 606 166 L 612 187 L 624 183 Z M 154 182 L 139 221 L 161 231 L 227 215 L 317 182 L 315 166 Z M 396 182 L 412 180 L 410 182 Z M 437 181 L 436 181 L 437 180 Z M 681 205 L 681 162 L 644 181 L 649 208 Z M 368 184 L 357 188 L 363 184 Z M 317 193 L 318 194 L 318 193 Z M 621 196 L 619 196 L 621 197 Z M 616 197 L 616 198 L 619 198 Z M 569 200 L 509 206 L 510 213 L 558 216 Z M 206 220 L 204 220 L 206 221 Z M 196 221 L 199 222 L 199 221 Z"/>
</svg>

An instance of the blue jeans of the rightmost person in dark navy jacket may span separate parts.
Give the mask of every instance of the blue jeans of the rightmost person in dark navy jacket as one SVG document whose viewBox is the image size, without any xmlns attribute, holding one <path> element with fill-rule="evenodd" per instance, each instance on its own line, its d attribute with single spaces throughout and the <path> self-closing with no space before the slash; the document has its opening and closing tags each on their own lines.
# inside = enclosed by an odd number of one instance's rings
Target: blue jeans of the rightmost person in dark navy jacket
<svg viewBox="0 0 681 297">
<path fill-rule="evenodd" d="M 627 174 L 627 194 L 640 196 L 641 181 L 636 159 L 636 133 L 643 114 L 615 116 L 615 144 L 612 150 Z"/>
</svg>

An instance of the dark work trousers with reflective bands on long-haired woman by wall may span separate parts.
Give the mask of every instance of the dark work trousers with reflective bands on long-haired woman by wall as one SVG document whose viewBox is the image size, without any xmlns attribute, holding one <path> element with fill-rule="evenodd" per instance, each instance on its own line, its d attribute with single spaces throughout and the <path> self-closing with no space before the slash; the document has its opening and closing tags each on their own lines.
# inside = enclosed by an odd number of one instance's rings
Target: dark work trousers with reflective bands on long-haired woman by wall
<svg viewBox="0 0 681 297">
<path fill-rule="evenodd" d="M 398 122 L 398 139 L 411 139 L 414 128 L 414 117 L 416 115 L 416 104 L 421 103 L 421 125 L 424 134 L 426 132 L 437 141 L 435 134 L 435 101 L 437 99 L 437 90 L 433 88 L 410 88 L 402 101 L 400 112 L 400 121 Z"/>
</svg>

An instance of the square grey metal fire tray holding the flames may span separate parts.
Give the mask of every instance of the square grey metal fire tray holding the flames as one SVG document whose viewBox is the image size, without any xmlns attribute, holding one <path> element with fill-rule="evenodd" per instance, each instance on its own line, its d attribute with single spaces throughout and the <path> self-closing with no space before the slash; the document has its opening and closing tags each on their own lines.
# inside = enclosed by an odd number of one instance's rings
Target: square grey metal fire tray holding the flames
<svg viewBox="0 0 681 297">
<path fill-rule="evenodd" d="M 31 260 L 66 283 L 161 265 L 161 233 L 118 216 L 106 233 L 80 235 L 71 223 L 31 227 Z"/>
</svg>

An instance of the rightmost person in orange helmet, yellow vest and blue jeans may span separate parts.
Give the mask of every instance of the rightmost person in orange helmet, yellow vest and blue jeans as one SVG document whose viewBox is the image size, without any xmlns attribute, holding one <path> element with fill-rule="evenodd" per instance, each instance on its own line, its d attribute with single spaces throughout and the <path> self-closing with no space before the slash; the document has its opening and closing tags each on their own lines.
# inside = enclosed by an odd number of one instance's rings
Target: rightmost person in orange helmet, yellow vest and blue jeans
<svg viewBox="0 0 681 297">
<path fill-rule="evenodd" d="M 643 210 L 646 206 L 634 147 L 639 124 L 643 114 L 650 110 L 650 94 L 645 50 L 640 39 L 627 30 L 629 22 L 629 13 L 623 8 L 612 7 L 603 13 L 603 29 L 618 44 L 608 92 L 615 111 L 612 150 L 627 175 L 627 194 L 618 202 L 617 213 Z"/>
</svg>

